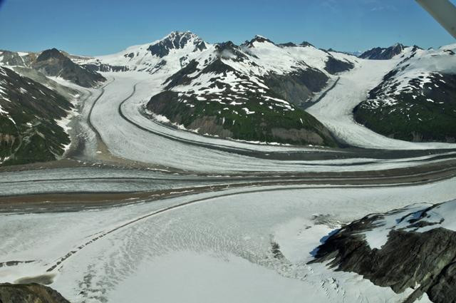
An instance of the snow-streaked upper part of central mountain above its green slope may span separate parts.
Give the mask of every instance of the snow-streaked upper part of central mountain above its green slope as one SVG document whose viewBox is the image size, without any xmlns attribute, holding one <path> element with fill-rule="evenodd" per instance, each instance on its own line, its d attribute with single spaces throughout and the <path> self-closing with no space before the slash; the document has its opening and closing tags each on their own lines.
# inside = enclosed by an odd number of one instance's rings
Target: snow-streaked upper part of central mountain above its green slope
<svg viewBox="0 0 456 303">
<path fill-rule="evenodd" d="M 231 41 L 206 45 L 207 50 L 195 58 L 190 60 L 185 56 L 180 59 L 192 64 L 185 65 L 185 68 L 168 78 L 165 81 L 167 89 L 195 91 L 197 95 L 204 95 L 204 90 L 200 88 L 216 80 L 224 82 L 210 76 L 210 73 L 222 68 L 232 71 L 234 79 L 244 77 L 255 86 L 271 89 L 286 102 L 299 104 L 314 92 L 321 91 L 332 74 L 348 71 L 356 63 L 353 56 L 329 53 L 310 44 L 276 45 L 261 36 L 240 46 Z M 226 79 L 226 83 L 231 80 Z"/>
</svg>

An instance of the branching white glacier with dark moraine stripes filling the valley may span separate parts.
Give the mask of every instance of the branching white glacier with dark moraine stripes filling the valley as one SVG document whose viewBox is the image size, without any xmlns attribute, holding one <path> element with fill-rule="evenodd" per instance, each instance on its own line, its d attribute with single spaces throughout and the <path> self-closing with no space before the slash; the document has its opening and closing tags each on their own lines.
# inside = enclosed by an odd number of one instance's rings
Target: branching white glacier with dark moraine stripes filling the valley
<svg viewBox="0 0 456 303">
<path fill-rule="evenodd" d="M 334 150 L 167 127 L 141 113 L 162 78 L 104 73 L 72 122 L 72 167 L 1 173 L 1 282 L 46 281 L 75 303 L 403 302 L 413 289 L 307 264 L 343 224 L 456 199 L 456 145 L 392 140 L 353 121 L 389 64 L 363 61 L 308 108 L 359 147 Z M 105 196 L 78 205 L 75 192 Z"/>
</svg>

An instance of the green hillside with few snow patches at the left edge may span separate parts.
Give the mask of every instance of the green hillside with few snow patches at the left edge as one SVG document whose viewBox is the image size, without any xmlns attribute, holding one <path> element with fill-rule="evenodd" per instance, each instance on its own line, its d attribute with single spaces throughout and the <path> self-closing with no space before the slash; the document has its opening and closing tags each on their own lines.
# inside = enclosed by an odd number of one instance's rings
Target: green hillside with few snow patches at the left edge
<svg viewBox="0 0 456 303">
<path fill-rule="evenodd" d="M 0 165 L 55 160 L 70 143 L 56 120 L 73 106 L 46 86 L 0 67 Z"/>
</svg>

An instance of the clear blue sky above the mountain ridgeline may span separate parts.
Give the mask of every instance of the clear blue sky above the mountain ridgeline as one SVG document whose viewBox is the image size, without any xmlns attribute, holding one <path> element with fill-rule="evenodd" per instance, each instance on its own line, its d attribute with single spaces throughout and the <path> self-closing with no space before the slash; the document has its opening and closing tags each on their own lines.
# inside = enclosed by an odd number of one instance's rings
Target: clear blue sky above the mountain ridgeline
<svg viewBox="0 0 456 303">
<path fill-rule="evenodd" d="M 209 43 L 261 34 L 276 43 L 309 41 L 340 51 L 395 42 L 423 48 L 455 43 L 413 0 L 0 0 L 0 49 L 56 47 L 115 53 L 170 31 Z M 452 1 L 455 3 L 455 1 Z"/>
</svg>

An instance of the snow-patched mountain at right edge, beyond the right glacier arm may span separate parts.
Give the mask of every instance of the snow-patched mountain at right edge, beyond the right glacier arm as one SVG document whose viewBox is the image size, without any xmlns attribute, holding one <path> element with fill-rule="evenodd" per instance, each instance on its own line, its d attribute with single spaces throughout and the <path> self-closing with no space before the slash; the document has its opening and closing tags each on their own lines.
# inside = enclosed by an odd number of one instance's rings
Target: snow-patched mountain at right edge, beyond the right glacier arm
<svg viewBox="0 0 456 303">
<path fill-rule="evenodd" d="M 456 140 L 456 44 L 409 48 L 354 110 L 358 123 L 413 141 Z"/>
</svg>

